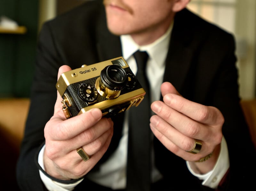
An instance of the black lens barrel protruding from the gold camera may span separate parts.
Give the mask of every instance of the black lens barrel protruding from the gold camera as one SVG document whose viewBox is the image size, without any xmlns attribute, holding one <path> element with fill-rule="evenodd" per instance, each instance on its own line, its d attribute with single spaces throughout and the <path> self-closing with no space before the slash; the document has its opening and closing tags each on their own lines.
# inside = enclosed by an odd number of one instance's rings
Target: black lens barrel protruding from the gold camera
<svg viewBox="0 0 256 191">
<path fill-rule="evenodd" d="M 101 82 L 110 90 L 120 91 L 126 84 L 127 75 L 119 65 L 109 65 L 100 72 Z"/>
</svg>

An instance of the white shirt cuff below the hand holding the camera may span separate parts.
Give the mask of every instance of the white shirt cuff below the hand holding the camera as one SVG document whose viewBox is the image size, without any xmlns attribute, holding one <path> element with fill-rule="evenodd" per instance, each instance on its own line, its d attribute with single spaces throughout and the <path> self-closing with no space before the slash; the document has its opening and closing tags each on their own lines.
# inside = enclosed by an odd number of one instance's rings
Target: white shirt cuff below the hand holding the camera
<svg viewBox="0 0 256 191">
<path fill-rule="evenodd" d="M 38 164 L 41 166 L 41 168 L 43 170 L 45 170 L 44 169 L 44 149 L 45 149 L 45 145 L 42 147 L 42 149 L 40 150 L 40 152 L 38 154 Z M 58 190 L 58 191 L 71 191 L 80 182 L 82 182 L 84 180 L 84 179 L 80 179 L 77 182 L 74 182 L 74 183 L 71 183 L 71 184 L 64 184 L 64 183 L 56 182 L 56 181 L 50 179 L 41 170 L 39 170 L 39 174 L 40 174 L 40 178 L 43 181 L 45 187 L 49 191 L 55 191 L 55 190 Z"/>
</svg>

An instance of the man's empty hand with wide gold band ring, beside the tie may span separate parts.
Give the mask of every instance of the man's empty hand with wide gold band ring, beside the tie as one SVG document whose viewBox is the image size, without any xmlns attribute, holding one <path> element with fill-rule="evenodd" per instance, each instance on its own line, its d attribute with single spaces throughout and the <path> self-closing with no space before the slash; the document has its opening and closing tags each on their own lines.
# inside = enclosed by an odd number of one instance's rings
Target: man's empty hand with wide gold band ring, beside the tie
<svg viewBox="0 0 256 191">
<path fill-rule="evenodd" d="M 205 162 L 195 163 L 197 173 L 207 173 L 216 164 L 222 140 L 224 117 L 216 107 L 204 106 L 183 98 L 169 82 L 161 85 L 163 101 L 155 101 L 151 109 L 150 128 L 160 142 L 184 160 L 195 162 L 212 153 Z M 202 143 L 197 154 L 189 153 L 195 139 Z"/>
</svg>

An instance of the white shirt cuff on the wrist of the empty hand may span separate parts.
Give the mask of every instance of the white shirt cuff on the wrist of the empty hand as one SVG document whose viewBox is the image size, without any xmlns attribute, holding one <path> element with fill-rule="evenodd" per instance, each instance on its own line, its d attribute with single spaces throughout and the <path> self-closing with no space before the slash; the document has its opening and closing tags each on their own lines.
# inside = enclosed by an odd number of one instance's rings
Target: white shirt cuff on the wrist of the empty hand
<svg viewBox="0 0 256 191">
<path fill-rule="evenodd" d="M 224 177 L 224 175 L 229 169 L 228 146 L 224 136 L 221 140 L 219 158 L 212 171 L 206 174 L 197 174 L 191 169 L 189 162 L 186 161 L 186 163 L 190 173 L 192 173 L 198 179 L 203 180 L 202 185 L 216 189 L 221 179 Z"/>
</svg>

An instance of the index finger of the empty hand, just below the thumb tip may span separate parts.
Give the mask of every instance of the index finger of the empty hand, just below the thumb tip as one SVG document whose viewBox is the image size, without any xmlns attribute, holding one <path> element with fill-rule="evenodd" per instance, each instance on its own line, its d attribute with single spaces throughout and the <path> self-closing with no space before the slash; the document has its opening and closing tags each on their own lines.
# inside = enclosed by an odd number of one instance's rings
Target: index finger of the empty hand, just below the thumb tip
<svg viewBox="0 0 256 191">
<path fill-rule="evenodd" d="M 189 118 L 210 126 L 224 122 L 224 118 L 217 108 L 204 106 L 175 94 L 166 94 L 164 103 Z"/>
</svg>

